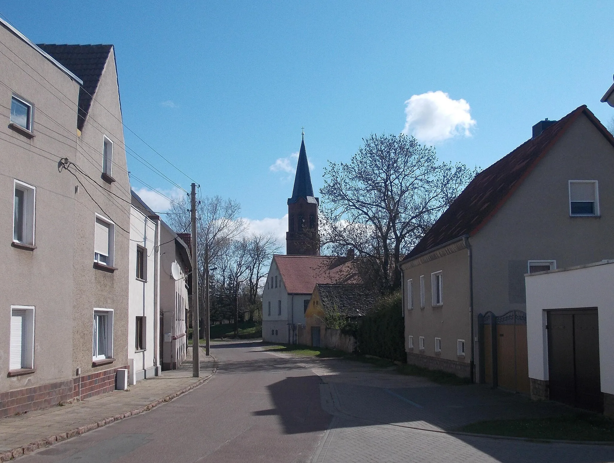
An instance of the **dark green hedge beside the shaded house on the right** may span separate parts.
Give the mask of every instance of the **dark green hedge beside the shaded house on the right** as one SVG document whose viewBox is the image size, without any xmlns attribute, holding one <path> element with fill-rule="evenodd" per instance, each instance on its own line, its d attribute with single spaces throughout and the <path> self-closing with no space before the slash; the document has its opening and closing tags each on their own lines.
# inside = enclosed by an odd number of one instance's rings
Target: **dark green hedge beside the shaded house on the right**
<svg viewBox="0 0 614 463">
<path fill-rule="evenodd" d="M 378 300 L 373 312 L 364 316 L 356 329 L 360 354 L 406 362 L 405 323 L 400 291 Z"/>
</svg>

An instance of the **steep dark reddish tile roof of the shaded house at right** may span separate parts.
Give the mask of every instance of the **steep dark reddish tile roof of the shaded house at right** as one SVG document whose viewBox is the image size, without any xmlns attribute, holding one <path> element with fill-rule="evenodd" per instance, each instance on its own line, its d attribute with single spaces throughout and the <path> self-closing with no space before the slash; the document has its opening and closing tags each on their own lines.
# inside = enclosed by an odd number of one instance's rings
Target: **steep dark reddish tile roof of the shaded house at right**
<svg viewBox="0 0 614 463">
<path fill-rule="evenodd" d="M 584 114 L 614 145 L 612 134 L 594 114 L 582 105 L 542 134 L 527 140 L 507 156 L 499 159 L 467 185 L 450 207 L 433 224 L 405 260 L 413 259 L 432 248 L 451 242 L 464 235 L 476 234 L 505 204 L 516 188 L 535 168 L 540 159 L 554 146 L 573 121 Z"/>
</svg>

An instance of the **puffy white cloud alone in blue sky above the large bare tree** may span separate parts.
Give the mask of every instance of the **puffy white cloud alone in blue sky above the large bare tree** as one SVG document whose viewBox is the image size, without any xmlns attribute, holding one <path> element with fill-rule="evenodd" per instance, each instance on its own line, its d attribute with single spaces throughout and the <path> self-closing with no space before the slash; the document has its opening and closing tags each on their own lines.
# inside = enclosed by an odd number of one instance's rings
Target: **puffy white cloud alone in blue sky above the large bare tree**
<svg viewBox="0 0 614 463">
<path fill-rule="evenodd" d="M 403 133 L 421 142 L 440 142 L 457 135 L 470 137 L 475 125 L 464 99 L 453 100 L 441 90 L 413 95 L 405 102 Z"/>
</svg>

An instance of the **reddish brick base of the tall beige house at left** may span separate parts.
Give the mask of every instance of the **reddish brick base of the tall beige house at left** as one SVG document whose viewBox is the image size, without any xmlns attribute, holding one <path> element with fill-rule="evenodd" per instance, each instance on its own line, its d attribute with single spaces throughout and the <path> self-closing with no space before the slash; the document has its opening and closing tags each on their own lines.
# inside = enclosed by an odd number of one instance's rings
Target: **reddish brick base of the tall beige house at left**
<svg viewBox="0 0 614 463">
<path fill-rule="evenodd" d="M 128 368 L 128 366 L 118 368 Z M 79 379 L 81 399 L 113 391 L 115 389 L 116 371 L 117 368 L 114 368 L 91 373 L 80 378 L 0 392 L 0 418 L 15 415 L 15 413 L 52 407 L 59 402 L 76 399 L 79 397 Z"/>
</svg>

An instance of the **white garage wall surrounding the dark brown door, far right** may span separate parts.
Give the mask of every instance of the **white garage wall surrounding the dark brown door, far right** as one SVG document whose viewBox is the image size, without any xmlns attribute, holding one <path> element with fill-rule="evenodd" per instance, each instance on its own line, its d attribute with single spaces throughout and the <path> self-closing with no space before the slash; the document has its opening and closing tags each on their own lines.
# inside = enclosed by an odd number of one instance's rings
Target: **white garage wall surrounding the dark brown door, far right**
<svg viewBox="0 0 614 463">
<path fill-rule="evenodd" d="M 525 277 L 529 378 L 548 380 L 545 310 L 597 307 L 601 391 L 614 394 L 614 261 Z"/>
</svg>

